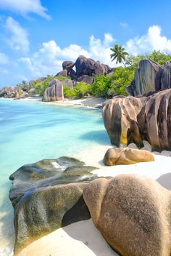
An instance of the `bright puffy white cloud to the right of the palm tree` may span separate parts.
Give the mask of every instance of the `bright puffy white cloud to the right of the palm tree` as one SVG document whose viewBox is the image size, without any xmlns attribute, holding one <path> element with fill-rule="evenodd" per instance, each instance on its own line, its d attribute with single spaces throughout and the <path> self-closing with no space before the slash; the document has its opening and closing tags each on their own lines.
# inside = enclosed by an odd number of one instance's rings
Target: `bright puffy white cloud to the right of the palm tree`
<svg viewBox="0 0 171 256">
<path fill-rule="evenodd" d="M 130 55 L 146 54 L 155 50 L 171 52 L 171 40 L 161 34 L 162 28 L 159 25 L 149 27 L 146 35 L 129 39 L 125 49 Z"/>
</svg>

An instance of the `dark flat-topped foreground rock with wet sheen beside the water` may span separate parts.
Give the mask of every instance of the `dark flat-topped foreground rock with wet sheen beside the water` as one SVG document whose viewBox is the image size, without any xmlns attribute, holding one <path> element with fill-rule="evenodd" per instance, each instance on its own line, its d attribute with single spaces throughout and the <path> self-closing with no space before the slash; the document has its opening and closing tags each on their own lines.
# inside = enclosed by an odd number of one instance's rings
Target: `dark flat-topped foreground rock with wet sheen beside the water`
<svg viewBox="0 0 171 256">
<path fill-rule="evenodd" d="M 90 218 L 83 188 L 95 167 L 68 157 L 26 164 L 9 179 L 14 207 L 15 252 L 65 225 Z"/>
</svg>

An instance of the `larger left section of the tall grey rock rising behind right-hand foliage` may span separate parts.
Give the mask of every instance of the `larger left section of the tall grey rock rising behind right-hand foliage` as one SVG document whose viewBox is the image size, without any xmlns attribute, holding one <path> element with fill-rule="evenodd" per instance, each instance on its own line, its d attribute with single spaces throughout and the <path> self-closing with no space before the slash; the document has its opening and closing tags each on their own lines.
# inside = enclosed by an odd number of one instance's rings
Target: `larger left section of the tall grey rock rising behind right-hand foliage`
<svg viewBox="0 0 171 256">
<path fill-rule="evenodd" d="M 163 67 L 153 60 L 141 60 L 135 71 L 135 78 L 128 87 L 133 96 L 143 95 L 161 89 Z M 168 87 L 167 87 L 168 88 Z"/>
</svg>

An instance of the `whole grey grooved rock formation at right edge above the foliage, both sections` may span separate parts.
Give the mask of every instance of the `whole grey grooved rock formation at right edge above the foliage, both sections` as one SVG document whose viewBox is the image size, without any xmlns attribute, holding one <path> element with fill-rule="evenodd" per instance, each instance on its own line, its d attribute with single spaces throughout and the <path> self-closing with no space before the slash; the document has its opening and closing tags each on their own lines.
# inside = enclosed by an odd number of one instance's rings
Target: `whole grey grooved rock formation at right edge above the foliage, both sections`
<svg viewBox="0 0 171 256">
<path fill-rule="evenodd" d="M 128 93 L 133 96 L 143 95 L 160 89 L 171 88 L 171 61 L 162 65 L 153 60 L 141 60 L 135 71 L 135 78 L 127 87 Z"/>
</svg>

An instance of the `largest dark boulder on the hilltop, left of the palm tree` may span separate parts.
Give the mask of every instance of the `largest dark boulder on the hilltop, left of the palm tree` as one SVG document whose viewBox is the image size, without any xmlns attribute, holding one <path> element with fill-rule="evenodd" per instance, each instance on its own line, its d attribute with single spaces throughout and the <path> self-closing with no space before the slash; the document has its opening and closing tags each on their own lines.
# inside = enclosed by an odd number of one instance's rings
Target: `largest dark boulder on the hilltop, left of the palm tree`
<svg viewBox="0 0 171 256">
<path fill-rule="evenodd" d="M 107 74 L 112 70 L 108 65 L 101 64 L 99 61 L 86 58 L 82 55 L 76 60 L 75 68 L 78 77 L 83 75 L 93 76 Z"/>
</svg>

